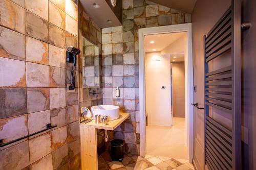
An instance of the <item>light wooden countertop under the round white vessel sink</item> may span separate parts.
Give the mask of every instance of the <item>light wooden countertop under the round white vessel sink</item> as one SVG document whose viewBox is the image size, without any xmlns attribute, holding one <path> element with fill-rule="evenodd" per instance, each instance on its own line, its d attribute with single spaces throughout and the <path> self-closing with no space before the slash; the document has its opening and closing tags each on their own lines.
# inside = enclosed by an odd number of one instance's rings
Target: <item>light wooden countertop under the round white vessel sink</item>
<svg viewBox="0 0 256 170">
<path fill-rule="evenodd" d="M 128 118 L 130 116 L 130 113 L 122 113 L 120 112 L 119 118 L 115 119 L 115 120 L 109 120 L 108 124 L 106 125 L 102 125 L 100 124 L 96 124 L 95 120 L 92 120 L 91 122 L 84 124 L 81 123 L 80 126 L 81 127 L 93 127 L 96 129 L 105 129 L 105 130 L 110 130 L 113 131 L 114 129 L 116 129 L 121 123 L 123 123 L 123 121 Z"/>
</svg>

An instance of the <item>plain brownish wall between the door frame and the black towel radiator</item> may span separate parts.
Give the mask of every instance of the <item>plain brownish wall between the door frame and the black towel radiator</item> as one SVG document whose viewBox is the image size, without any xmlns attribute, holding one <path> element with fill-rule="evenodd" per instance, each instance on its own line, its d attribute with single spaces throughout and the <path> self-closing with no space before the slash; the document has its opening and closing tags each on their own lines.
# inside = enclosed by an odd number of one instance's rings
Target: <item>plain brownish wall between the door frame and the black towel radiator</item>
<svg viewBox="0 0 256 170">
<path fill-rule="evenodd" d="M 204 106 L 203 36 L 215 25 L 231 5 L 230 0 L 197 0 L 191 16 L 193 38 L 194 102 Z M 204 110 L 194 109 L 194 160 L 198 169 L 204 167 Z"/>
</svg>

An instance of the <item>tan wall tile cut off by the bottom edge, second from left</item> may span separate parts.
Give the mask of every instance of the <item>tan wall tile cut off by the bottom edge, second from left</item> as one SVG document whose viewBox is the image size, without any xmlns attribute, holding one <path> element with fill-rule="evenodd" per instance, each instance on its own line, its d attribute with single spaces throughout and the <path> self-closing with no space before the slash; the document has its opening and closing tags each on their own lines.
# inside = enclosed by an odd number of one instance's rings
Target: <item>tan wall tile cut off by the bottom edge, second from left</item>
<svg viewBox="0 0 256 170">
<path fill-rule="evenodd" d="M 45 156 L 44 158 L 36 161 L 30 165 L 31 170 L 52 170 L 52 154 Z"/>
</svg>

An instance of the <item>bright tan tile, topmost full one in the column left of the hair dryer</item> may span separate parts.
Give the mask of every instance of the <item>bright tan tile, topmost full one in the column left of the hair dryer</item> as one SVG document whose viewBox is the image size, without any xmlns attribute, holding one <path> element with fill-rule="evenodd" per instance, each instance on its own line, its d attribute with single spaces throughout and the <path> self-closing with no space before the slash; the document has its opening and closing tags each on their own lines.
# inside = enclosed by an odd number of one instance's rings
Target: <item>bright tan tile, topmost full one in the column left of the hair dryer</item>
<svg viewBox="0 0 256 170">
<path fill-rule="evenodd" d="M 66 28 L 66 14 L 60 8 L 49 2 L 49 22 L 55 26 L 65 30 Z"/>
</svg>

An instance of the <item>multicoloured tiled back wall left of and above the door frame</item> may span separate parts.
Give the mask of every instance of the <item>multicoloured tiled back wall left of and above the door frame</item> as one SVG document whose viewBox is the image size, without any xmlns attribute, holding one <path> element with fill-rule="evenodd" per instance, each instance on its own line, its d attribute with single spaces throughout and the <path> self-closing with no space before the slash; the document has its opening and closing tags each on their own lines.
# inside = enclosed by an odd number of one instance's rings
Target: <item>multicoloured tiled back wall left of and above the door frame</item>
<svg viewBox="0 0 256 170">
<path fill-rule="evenodd" d="M 190 14 L 150 1 L 123 0 L 123 26 L 102 29 L 103 104 L 118 105 L 131 114 L 114 131 L 125 152 L 139 154 L 138 29 L 190 22 Z M 120 98 L 115 88 L 120 88 Z"/>
</svg>

